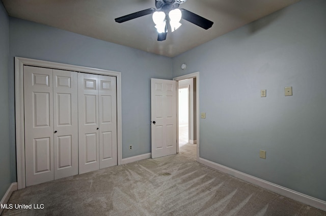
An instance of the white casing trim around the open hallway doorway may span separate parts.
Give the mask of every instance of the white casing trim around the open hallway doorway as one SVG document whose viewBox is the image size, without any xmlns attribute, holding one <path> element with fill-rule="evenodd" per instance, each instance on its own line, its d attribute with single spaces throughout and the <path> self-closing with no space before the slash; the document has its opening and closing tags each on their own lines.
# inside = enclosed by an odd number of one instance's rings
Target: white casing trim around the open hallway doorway
<svg viewBox="0 0 326 216">
<path fill-rule="evenodd" d="M 189 73 L 186 75 L 174 77 L 173 80 L 179 81 L 182 79 L 189 79 L 189 78 L 196 78 L 196 118 L 197 118 L 196 119 L 196 126 L 197 126 L 196 139 L 200 140 L 199 139 L 199 126 L 200 126 L 200 124 L 199 124 L 199 72 Z M 177 132 L 179 132 L 179 129 L 177 129 Z M 177 135 L 178 135 L 178 133 L 177 133 Z M 199 162 L 199 142 L 197 143 L 197 162 Z"/>
</svg>

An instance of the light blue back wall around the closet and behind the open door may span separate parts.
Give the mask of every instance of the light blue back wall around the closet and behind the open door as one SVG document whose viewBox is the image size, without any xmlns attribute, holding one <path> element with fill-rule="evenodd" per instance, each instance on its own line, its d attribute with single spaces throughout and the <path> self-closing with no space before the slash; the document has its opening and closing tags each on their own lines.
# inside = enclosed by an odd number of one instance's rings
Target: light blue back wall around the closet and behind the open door
<svg viewBox="0 0 326 216">
<path fill-rule="evenodd" d="M 150 78 L 172 79 L 171 58 L 10 17 L 10 136 L 13 149 L 14 57 L 121 72 L 122 157 L 151 152 Z M 133 150 L 128 150 L 130 144 Z M 15 163 L 15 155 L 12 160 Z M 15 179 L 13 176 L 13 181 Z"/>
</svg>

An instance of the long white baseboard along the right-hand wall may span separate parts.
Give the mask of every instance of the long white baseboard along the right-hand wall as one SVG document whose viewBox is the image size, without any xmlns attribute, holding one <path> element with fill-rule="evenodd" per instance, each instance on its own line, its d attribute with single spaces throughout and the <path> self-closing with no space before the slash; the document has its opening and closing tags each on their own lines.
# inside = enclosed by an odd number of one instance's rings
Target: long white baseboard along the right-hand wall
<svg viewBox="0 0 326 216">
<path fill-rule="evenodd" d="M 265 181 L 260 178 L 256 178 L 256 177 L 248 175 L 246 173 L 242 173 L 237 170 L 233 170 L 233 169 L 225 167 L 223 165 L 216 164 L 210 160 L 206 160 L 204 158 L 199 158 L 199 163 L 203 164 L 207 167 L 213 168 L 215 170 L 221 171 L 223 173 L 229 174 L 231 176 L 234 176 L 236 178 L 242 179 L 244 181 L 250 182 L 250 183 L 260 186 L 262 188 L 265 188 L 268 191 L 277 193 L 284 197 L 288 197 L 290 199 L 293 199 L 293 200 L 302 202 L 304 204 L 313 206 L 315 208 L 321 209 L 323 211 L 326 211 L 326 202 L 323 200 L 319 200 L 314 197 L 310 197 L 308 195 L 293 191 L 289 188 L 271 183 L 269 181 Z"/>
</svg>

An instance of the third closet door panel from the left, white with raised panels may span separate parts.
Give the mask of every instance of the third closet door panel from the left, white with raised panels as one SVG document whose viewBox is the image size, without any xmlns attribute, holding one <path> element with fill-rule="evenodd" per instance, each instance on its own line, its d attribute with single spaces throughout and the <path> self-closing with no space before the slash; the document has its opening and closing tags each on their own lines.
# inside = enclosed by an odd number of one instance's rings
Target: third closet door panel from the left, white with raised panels
<svg viewBox="0 0 326 216">
<path fill-rule="evenodd" d="M 99 169 L 98 75 L 78 73 L 79 174 Z"/>
</svg>

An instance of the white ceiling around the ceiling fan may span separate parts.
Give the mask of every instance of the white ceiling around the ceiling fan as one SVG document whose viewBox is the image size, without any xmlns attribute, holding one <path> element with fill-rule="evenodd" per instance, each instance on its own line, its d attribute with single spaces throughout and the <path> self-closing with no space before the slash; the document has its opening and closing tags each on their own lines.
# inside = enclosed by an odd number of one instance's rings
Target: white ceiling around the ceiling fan
<svg viewBox="0 0 326 216">
<path fill-rule="evenodd" d="M 300 0 L 188 0 L 184 8 L 214 22 L 212 28 L 181 20 L 182 26 L 157 41 L 151 15 L 123 23 L 115 18 L 148 8 L 155 0 L 2 0 L 10 16 L 104 41 L 175 57 Z"/>
</svg>

